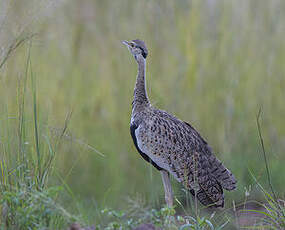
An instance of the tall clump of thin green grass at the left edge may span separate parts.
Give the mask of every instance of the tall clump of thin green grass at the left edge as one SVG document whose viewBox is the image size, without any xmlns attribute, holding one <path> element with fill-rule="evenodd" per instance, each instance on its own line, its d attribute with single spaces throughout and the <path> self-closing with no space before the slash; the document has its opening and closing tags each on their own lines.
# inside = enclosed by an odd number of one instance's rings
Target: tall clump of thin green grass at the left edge
<svg viewBox="0 0 285 230">
<path fill-rule="evenodd" d="M 52 137 L 45 123 L 39 121 L 36 78 L 31 67 L 29 53 L 25 75 L 17 90 L 17 114 L 12 118 L 6 113 L 1 121 L 0 228 L 3 230 L 63 229 L 79 220 L 60 205 L 58 195 L 62 186 L 48 184 L 60 138 Z M 28 80 L 30 96 L 26 95 Z M 29 99 L 32 117 L 26 115 L 25 104 Z M 65 129 L 61 136 L 64 134 Z"/>
</svg>

